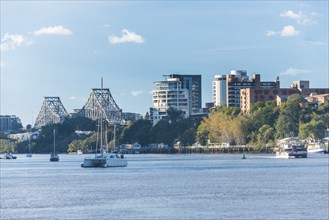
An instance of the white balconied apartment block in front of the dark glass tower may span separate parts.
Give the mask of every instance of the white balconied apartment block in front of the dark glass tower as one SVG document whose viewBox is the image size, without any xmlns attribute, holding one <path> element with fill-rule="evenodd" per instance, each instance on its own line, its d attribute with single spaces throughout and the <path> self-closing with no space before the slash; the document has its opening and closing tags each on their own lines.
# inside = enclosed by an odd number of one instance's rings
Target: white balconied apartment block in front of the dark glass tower
<svg viewBox="0 0 329 220">
<path fill-rule="evenodd" d="M 190 115 L 188 89 L 182 88 L 179 78 L 167 78 L 154 83 L 153 107 L 150 108 L 150 119 L 153 124 L 166 117 L 167 109 L 170 107 L 181 110 L 185 117 Z"/>
</svg>

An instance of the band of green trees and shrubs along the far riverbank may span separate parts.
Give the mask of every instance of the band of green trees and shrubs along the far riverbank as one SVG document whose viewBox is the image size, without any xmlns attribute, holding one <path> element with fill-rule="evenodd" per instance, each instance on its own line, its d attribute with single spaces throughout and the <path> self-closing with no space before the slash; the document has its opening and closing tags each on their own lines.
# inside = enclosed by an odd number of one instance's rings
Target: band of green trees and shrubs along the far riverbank
<svg viewBox="0 0 329 220">
<path fill-rule="evenodd" d="M 299 137 L 319 141 L 328 136 L 329 129 L 329 100 L 321 105 L 308 103 L 299 94 L 289 96 L 279 106 L 274 101 L 257 102 L 248 114 L 236 107 L 217 107 L 207 116 L 188 118 L 173 108 L 167 113 L 168 116 L 155 125 L 146 114 L 141 120 L 116 126 L 115 146 L 114 127 L 108 125 L 103 143 L 106 148 L 116 150 L 139 143 L 140 153 L 272 153 L 279 139 Z M 91 119 L 74 117 L 42 127 L 38 137 L 30 141 L 11 140 L 0 134 L 0 152 L 26 153 L 30 144 L 32 153 L 49 153 L 55 129 L 58 153 L 78 150 L 91 153 L 98 144 L 96 127 Z M 88 134 L 81 135 L 76 130 L 88 131 Z"/>
</svg>

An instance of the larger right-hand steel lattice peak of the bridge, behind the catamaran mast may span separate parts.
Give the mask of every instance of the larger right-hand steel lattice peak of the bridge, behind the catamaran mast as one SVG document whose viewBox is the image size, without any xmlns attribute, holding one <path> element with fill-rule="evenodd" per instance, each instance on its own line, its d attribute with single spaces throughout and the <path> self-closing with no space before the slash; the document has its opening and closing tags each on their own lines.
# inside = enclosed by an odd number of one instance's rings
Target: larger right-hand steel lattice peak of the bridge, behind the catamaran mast
<svg viewBox="0 0 329 220">
<path fill-rule="evenodd" d="M 101 117 L 109 124 L 123 124 L 122 109 L 114 101 L 109 89 L 92 89 L 80 116 L 99 120 Z"/>
</svg>

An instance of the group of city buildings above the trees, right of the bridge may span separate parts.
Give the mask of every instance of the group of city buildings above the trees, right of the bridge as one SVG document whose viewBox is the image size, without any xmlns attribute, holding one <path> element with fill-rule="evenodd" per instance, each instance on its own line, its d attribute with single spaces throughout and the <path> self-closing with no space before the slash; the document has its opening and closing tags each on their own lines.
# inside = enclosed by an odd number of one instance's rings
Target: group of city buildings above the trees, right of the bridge
<svg viewBox="0 0 329 220">
<path fill-rule="evenodd" d="M 231 70 L 226 75 L 215 75 L 212 102 L 202 108 L 201 75 L 166 75 L 165 80 L 155 82 L 150 119 L 156 124 L 167 116 L 169 108 L 182 111 L 185 117 L 207 114 L 216 106 L 238 107 L 249 114 L 251 106 L 258 101 L 276 101 L 280 105 L 292 94 L 300 94 L 317 104 L 329 99 L 329 88 L 309 85 L 309 81 L 295 81 L 290 88 L 281 88 L 279 77 L 275 81 L 261 81 L 260 74 L 253 74 L 249 79 L 246 70 Z"/>
</svg>

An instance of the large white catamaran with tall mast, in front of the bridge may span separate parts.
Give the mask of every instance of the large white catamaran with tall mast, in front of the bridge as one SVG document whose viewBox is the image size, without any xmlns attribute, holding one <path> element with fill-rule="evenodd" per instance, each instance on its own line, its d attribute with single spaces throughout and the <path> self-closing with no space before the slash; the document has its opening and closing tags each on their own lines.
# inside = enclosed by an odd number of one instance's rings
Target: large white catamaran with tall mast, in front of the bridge
<svg viewBox="0 0 329 220">
<path fill-rule="evenodd" d="M 103 78 L 101 80 L 101 96 L 103 97 Z M 119 156 L 118 154 L 111 153 L 106 155 L 103 148 L 103 112 L 100 115 L 100 155 L 97 154 L 97 144 L 95 156 L 85 157 L 81 167 L 126 167 L 127 160 L 124 158 L 123 154 Z"/>
</svg>

